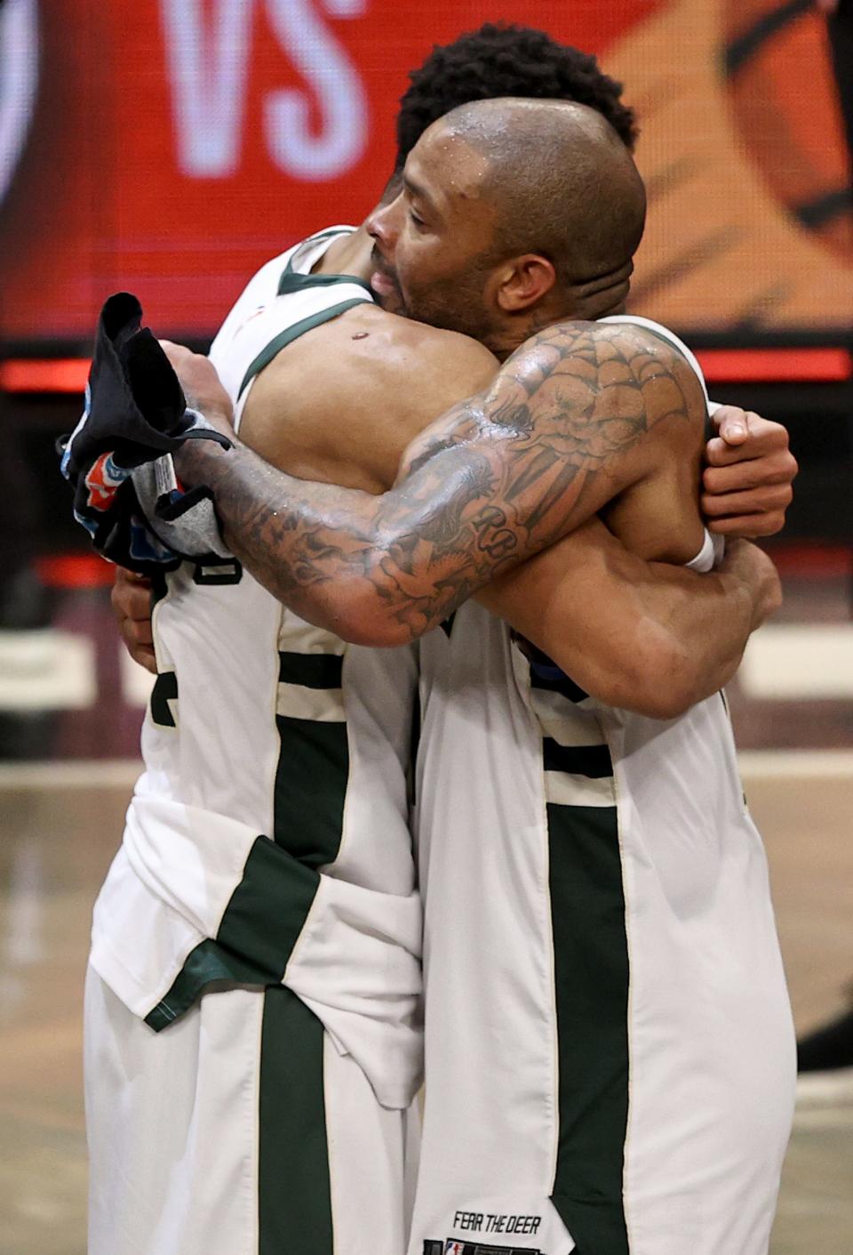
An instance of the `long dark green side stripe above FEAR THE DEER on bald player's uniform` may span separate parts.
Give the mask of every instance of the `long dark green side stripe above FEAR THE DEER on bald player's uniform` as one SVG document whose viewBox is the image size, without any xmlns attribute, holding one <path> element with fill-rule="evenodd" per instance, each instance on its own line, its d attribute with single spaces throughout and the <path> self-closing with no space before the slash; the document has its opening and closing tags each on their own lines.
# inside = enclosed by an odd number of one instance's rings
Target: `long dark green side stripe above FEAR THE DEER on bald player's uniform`
<svg viewBox="0 0 853 1255">
<path fill-rule="evenodd" d="M 559 1059 L 552 1199 L 578 1255 L 628 1255 L 628 950 L 617 811 L 547 809 Z"/>
</svg>

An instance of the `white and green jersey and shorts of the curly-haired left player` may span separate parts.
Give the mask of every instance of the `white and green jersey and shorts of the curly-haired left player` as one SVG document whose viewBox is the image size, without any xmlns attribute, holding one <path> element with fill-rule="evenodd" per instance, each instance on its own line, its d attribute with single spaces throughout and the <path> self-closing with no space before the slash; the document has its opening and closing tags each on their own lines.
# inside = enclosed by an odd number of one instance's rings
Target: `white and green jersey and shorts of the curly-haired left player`
<svg viewBox="0 0 853 1255">
<path fill-rule="evenodd" d="M 228 315 L 211 355 L 238 414 L 281 348 L 370 299 L 310 275 L 340 230 Z M 94 912 L 90 1251 L 366 1255 L 378 1232 L 401 1250 L 414 651 L 346 645 L 238 562 L 169 574 L 153 630 L 146 771 Z"/>
</svg>

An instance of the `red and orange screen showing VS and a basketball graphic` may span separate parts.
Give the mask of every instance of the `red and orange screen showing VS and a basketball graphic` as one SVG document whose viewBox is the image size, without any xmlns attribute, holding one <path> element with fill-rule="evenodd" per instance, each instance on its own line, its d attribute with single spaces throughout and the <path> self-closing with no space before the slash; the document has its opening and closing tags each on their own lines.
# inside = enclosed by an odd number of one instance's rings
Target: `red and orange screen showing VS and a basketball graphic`
<svg viewBox="0 0 853 1255">
<path fill-rule="evenodd" d="M 206 338 L 265 260 L 358 222 L 396 102 L 484 20 L 600 56 L 641 119 L 633 307 L 676 328 L 853 323 L 825 23 L 779 0 L 1 0 L 0 336 L 85 341 L 104 297 Z"/>
</svg>

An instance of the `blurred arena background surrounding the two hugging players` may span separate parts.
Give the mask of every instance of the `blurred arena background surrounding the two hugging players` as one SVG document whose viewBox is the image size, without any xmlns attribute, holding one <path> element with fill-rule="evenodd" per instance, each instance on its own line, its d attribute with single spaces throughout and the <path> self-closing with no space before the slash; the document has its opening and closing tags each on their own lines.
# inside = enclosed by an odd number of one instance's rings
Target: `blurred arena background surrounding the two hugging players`
<svg viewBox="0 0 853 1255">
<path fill-rule="evenodd" d="M 100 305 L 204 349 L 263 261 L 373 207 L 409 69 L 501 19 L 625 83 L 632 309 L 800 463 L 730 697 L 798 1028 L 842 1025 L 820 1071 L 852 1078 L 798 1113 L 774 1255 L 853 1252 L 850 0 L 0 0 L 0 1255 L 85 1250 L 82 975 L 149 688 L 54 452 Z"/>
</svg>

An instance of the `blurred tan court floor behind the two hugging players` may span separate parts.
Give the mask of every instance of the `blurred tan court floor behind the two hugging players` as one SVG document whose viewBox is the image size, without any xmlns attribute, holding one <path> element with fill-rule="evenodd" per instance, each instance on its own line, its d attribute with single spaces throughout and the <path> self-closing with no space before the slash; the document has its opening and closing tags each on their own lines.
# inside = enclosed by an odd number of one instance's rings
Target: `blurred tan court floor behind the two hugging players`
<svg viewBox="0 0 853 1255">
<path fill-rule="evenodd" d="M 819 587 L 790 579 L 730 693 L 800 1032 L 844 1009 L 853 981 L 848 599 L 849 572 Z M 69 594 L 50 631 L 0 639 L 0 1255 L 85 1251 L 83 971 L 146 689 L 122 661 L 104 590 Z M 39 697 L 34 680 L 25 710 L 15 675 L 26 649 L 33 675 L 53 668 L 54 681 Z M 798 1109 L 771 1251 L 852 1255 L 853 1094 Z"/>
</svg>

